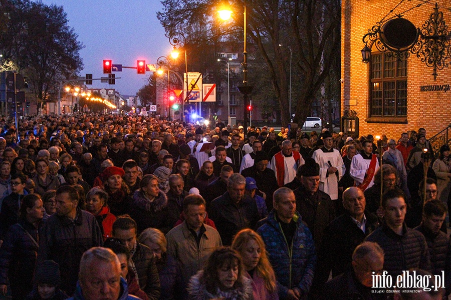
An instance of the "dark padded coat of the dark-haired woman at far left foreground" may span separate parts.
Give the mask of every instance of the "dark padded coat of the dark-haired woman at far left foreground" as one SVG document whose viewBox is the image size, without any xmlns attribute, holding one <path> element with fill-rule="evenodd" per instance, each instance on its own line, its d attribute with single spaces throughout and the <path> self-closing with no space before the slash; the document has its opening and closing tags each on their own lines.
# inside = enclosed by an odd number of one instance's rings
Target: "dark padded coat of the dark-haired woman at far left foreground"
<svg viewBox="0 0 451 300">
<path fill-rule="evenodd" d="M 0 284 L 8 284 L 9 278 L 16 299 L 25 298 L 33 289 L 33 272 L 38 254 L 38 246 L 24 229 L 35 241 L 39 240 L 38 228 L 20 220 L 8 229 L 0 248 Z"/>
</svg>

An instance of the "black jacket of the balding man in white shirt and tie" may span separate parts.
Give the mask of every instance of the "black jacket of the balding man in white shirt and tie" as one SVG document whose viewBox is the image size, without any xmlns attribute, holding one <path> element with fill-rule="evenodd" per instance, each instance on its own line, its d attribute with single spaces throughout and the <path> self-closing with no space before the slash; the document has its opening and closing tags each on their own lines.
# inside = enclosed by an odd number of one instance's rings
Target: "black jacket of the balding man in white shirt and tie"
<svg viewBox="0 0 451 300">
<path fill-rule="evenodd" d="M 366 225 L 363 232 L 352 217 L 342 214 L 327 226 L 323 241 L 318 250 L 318 263 L 315 271 L 315 285 L 324 284 L 332 270 L 332 277 L 346 272 L 351 267 L 352 253 L 365 237 L 379 226 L 376 215 L 365 212 Z"/>
</svg>

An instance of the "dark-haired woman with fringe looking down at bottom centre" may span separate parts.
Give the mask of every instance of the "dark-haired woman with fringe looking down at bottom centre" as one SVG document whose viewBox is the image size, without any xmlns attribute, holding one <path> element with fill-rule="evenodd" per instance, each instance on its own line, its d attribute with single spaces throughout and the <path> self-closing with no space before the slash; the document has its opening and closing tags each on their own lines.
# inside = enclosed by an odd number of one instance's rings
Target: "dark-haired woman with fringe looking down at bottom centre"
<svg viewBox="0 0 451 300">
<path fill-rule="evenodd" d="M 214 250 L 203 270 L 189 280 L 187 291 L 192 300 L 253 298 L 251 280 L 243 274 L 240 254 L 231 247 Z"/>
</svg>

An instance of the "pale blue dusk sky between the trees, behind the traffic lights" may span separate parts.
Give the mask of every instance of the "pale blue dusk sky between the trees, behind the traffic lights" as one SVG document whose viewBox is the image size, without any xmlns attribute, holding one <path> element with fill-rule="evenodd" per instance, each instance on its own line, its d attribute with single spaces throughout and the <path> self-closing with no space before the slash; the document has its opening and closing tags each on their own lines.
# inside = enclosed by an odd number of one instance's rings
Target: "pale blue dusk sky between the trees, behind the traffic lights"
<svg viewBox="0 0 451 300">
<path fill-rule="evenodd" d="M 136 66 L 137 59 L 156 63 L 159 56 L 171 50 L 169 39 L 156 17 L 162 10 L 159 0 L 42 0 L 45 4 L 63 6 L 69 26 L 78 34 L 85 48 L 80 51 L 84 69 L 80 75 L 103 74 L 103 59 L 113 64 Z M 135 95 L 151 72 L 137 74 L 136 69 L 115 72 L 115 85 L 93 81 L 92 87 L 115 88 L 121 95 Z"/>
</svg>

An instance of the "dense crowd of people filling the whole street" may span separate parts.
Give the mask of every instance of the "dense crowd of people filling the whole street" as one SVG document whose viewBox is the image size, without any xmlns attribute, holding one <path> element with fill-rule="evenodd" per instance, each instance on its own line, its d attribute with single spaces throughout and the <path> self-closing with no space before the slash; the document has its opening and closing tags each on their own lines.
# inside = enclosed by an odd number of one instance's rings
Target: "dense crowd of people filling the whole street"
<svg viewBox="0 0 451 300">
<path fill-rule="evenodd" d="M 219 119 L 210 128 L 142 115 L 0 126 L 0 293 L 13 299 L 451 292 L 450 149 L 434 159 L 424 128 L 376 145 L 371 134 L 245 135 Z M 407 270 L 444 282 L 373 286 L 374 275 Z"/>
</svg>

